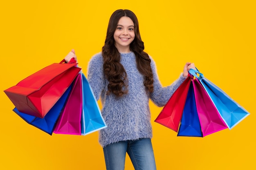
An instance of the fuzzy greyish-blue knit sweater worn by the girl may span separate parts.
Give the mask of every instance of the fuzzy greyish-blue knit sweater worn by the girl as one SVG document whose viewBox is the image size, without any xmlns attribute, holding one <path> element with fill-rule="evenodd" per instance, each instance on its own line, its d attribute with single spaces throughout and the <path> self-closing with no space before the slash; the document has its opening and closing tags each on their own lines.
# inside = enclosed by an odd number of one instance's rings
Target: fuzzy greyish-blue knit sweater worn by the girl
<svg viewBox="0 0 256 170">
<path fill-rule="evenodd" d="M 116 97 L 108 91 L 108 80 L 103 73 L 103 57 L 98 53 L 92 57 L 88 66 L 88 81 L 97 100 L 101 98 L 102 116 L 107 128 L 99 131 L 99 143 L 107 146 L 118 141 L 152 138 L 149 99 L 157 106 L 164 106 L 174 91 L 184 82 L 180 77 L 170 86 L 162 87 L 159 82 L 155 62 L 151 59 L 154 78 L 153 93 L 146 93 L 144 77 L 137 70 L 135 54 L 121 53 L 121 64 L 128 79 L 128 94 Z"/>
</svg>

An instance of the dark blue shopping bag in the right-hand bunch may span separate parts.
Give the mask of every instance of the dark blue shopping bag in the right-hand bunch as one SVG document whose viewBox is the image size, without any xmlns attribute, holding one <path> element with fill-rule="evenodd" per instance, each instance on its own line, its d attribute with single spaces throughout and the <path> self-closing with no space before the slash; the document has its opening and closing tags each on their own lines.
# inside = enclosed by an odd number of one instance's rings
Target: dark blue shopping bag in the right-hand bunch
<svg viewBox="0 0 256 170">
<path fill-rule="evenodd" d="M 191 81 L 177 136 L 203 137 Z"/>
</svg>

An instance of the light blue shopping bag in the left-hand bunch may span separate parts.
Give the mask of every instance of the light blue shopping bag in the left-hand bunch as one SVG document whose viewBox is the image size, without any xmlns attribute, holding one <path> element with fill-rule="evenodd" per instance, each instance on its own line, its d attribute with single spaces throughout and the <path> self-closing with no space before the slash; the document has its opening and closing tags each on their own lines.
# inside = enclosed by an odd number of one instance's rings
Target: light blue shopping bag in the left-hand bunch
<svg viewBox="0 0 256 170">
<path fill-rule="evenodd" d="M 82 94 L 83 94 L 83 109 L 81 121 L 81 135 L 87 135 L 97 130 L 106 128 L 106 123 L 101 115 L 99 105 L 93 94 L 92 88 L 86 79 L 85 75 L 81 73 L 82 78 Z"/>
</svg>

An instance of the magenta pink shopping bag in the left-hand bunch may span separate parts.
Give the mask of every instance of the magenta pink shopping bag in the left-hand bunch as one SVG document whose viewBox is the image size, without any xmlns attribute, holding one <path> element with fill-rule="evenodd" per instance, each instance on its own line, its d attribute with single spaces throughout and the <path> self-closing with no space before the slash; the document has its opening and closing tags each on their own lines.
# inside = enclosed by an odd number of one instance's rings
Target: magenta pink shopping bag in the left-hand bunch
<svg viewBox="0 0 256 170">
<path fill-rule="evenodd" d="M 78 74 L 72 84 L 70 95 L 58 118 L 54 133 L 81 135 L 82 81 Z"/>
</svg>

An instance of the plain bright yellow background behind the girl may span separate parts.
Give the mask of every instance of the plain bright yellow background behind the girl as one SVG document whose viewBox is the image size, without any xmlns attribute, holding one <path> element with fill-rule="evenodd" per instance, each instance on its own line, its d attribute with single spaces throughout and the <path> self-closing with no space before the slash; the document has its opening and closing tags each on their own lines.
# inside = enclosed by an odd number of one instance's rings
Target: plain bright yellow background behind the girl
<svg viewBox="0 0 256 170">
<path fill-rule="evenodd" d="M 60 62 L 71 49 L 86 73 L 90 57 L 101 51 L 116 9 L 137 15 L 145 51 L 155 60 L 164 86 L 180 75 L 185 62 L 194 62 L 251 113 L 232 130 L 204 138 L 176 137 L 176 132 L 153 122 L 162 108 L 150 102 L 158 170 L 256 168 L 254 0 L 5 0 L 0 4 L 0 169 L 105 169 L 98 132 L 50 136 L 16 115 L 3 91 Z M 126 170 L 132 170 L 129 159 Z"/>
</svg>

